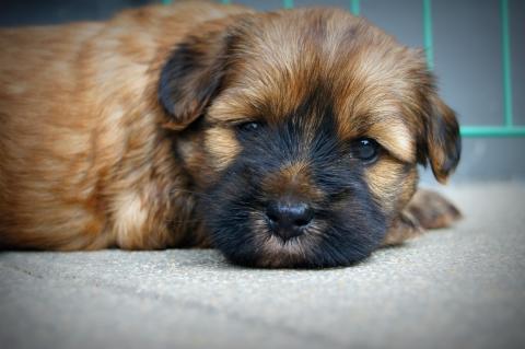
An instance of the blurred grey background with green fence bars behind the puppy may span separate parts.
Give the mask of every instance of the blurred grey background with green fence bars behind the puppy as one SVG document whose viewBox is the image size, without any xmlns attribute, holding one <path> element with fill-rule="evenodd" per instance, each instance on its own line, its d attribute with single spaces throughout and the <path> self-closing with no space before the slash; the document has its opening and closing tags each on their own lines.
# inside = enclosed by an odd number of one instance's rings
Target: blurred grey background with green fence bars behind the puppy
<svg viewBox="0 0 525 349">
<path fill-rule="evenodd" d="M 2 0 L 0 26 L 104 20 L 148 0 Z M 170 1 L 164 1 L 170 2 Z M 238 0 L 259 10 L 335 5 L 424 47 L 443 98 L 458 113 L 463 160 L 454 183 L 525 179 L 524 0 Z M 423 182 L 434 183 L 425 172 Z"/>
</svg>

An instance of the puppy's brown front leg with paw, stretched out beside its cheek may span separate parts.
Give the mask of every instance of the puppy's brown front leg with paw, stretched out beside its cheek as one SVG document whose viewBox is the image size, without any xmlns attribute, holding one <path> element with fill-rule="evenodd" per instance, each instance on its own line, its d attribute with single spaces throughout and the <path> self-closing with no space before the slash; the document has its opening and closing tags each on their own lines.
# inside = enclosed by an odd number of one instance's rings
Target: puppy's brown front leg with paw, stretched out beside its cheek
<svg viewBox="0 0 525 349">
<path fill-rule="evenodd" d="M 460 218 L 459 210 L 442 195 L 419 189 L 390 225 L 383 240 L 383 246 L 402 244 L 427 229 L 451 226 Z"/>
</svg>

